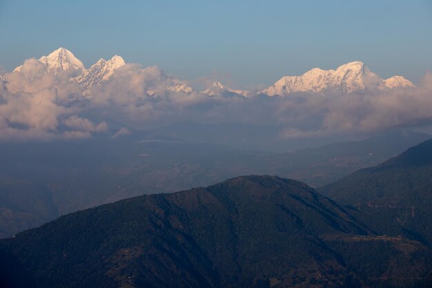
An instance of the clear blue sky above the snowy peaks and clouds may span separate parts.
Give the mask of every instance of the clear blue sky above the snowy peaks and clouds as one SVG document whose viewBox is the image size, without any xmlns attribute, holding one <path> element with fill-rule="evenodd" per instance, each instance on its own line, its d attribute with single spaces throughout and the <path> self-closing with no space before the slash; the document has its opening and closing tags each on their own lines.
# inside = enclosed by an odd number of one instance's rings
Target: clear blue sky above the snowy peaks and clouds
<svg viewBox="0 0 432 288">
<path fill-rule="evenodd" d="M 0 0 L 0 65 L 63 46 L 239 88 L 364 61 L 382 77 L 432 70 L 432 1 Z"/>
</svg>

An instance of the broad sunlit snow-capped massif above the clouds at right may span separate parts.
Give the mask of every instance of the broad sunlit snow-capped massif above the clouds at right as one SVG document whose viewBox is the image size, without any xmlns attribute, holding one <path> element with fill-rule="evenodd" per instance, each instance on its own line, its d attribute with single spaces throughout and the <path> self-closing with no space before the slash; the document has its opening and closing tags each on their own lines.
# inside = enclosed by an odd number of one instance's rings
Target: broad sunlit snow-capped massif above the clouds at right
<svg viewBox="0 0 432 288">
<path fill-rule="evenodd" d="M 353 61 L 336 70 L 313 68 L 301 76 L 285 76 L 262 93 L 268 96 L 288 95 L 295 92 L 321 93 L 323 90 L 340 90 L 353 93 L 359 90 L 413 87 L 411 81 L 401 76 L 382 79 L 372 73 L 363 62 Z"/>
</svg>

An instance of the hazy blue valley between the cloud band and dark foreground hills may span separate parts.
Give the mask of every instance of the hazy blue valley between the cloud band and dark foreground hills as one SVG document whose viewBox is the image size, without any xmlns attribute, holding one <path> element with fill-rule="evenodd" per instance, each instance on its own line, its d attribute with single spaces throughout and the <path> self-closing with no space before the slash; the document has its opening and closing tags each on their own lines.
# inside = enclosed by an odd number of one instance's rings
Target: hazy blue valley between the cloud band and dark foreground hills
<svg viewBox="0 0 432 288">
<path fill-rule="evenodd" d="M 361 142 L 272 153 L 135 134 L 119 140 L 0 144 L 0 236 L 100 204 L 208 186 L 237 175 L 279 175 L 319 186 L 429 137 L 393 131 Z"/>
</svg>

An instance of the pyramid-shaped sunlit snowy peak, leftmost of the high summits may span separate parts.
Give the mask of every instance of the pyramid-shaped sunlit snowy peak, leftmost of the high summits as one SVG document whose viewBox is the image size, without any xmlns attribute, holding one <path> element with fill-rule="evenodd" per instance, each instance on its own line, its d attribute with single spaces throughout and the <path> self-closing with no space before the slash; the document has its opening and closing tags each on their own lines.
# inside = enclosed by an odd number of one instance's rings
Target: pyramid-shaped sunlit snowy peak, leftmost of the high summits
<svg viewBox="0 0 432 288">
<path fill-rule="evenodd" d="M 75 55 L 65 48 L 58 48 L 51 52 L 48 56 L 39 58 L 39 62 L 46 66 L 45 72 L 48 74 L 56 75 L 60 71 L 68 70 L 70 68 L 86 70 L 83 62 L 81 62 Z M 18 66 L 14 71 L 21 70 L 22 66 Z"/>
</svg>

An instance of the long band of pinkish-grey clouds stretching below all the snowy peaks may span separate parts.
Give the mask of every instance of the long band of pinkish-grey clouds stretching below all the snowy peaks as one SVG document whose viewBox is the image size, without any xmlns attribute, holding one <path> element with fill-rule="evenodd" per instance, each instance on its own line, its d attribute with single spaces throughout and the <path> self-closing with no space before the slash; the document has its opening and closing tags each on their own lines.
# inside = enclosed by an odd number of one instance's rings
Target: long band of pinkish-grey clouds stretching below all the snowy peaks
<svg viewBox="0 0 432 288">
<path fill-rule="evenodd" d="M 188 90 L 157 67 L 121 66 L 84 91 L 79 71 L 44 72 L 36 59 L 0 78 L 0 140 L 120 137 L 183 120 L 278 124 L 282 137 L 380 131 L 432 124 L 432 75 L 414 88 L 359 93 L 293 93 L 285 97 Z M 186 88 L 185 88 L 186 87 Z M 115 123 L 115 125 L 112 125 Z"/>
</svg>

